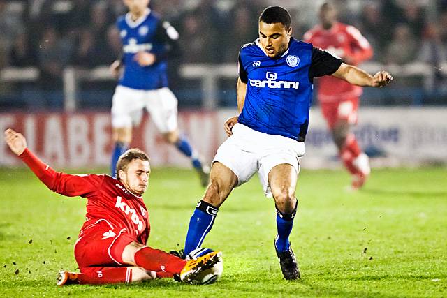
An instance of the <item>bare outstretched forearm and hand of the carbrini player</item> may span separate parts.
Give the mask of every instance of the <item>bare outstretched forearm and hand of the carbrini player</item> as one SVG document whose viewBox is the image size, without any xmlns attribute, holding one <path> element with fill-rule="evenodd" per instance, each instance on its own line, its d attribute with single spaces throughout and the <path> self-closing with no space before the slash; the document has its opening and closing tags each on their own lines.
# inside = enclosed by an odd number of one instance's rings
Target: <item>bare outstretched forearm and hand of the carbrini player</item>
<svg viewBox="0 0 447 298">
<path fill-rule="evenodd" d="M 375 75 L 369 75 L 365 70 L 344 63 L 332 76 L 362 87 L 384 87 L 393 80 L 393 76 L 387 71 L 382 70 Z"/>
</svg>

